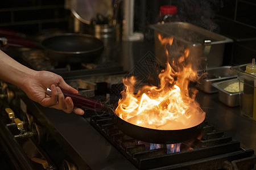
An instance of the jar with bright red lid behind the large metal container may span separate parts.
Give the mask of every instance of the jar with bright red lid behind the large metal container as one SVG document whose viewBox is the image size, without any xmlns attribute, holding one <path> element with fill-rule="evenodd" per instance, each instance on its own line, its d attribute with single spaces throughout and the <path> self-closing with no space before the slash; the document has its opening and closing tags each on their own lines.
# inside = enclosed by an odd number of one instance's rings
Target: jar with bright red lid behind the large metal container
<svg viewBox="0 0 256 170">
<path fill-rule="evenodd" d="M 160 24 L 168 22 L 177 22 L 179 18 L 177 16 L 177 7 L 174 5 L 160 6 Z"/>
</svg>

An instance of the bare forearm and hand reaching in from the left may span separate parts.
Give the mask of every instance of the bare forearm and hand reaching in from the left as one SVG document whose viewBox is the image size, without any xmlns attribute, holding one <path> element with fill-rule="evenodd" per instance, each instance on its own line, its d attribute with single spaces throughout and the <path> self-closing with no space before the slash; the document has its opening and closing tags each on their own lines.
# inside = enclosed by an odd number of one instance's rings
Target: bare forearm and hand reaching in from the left
<svg viewBox="0 0 256 170">
<path fill-rule="evenodd" d="M 23 90 L 31 100 L 43 105 L 63 110 L 64 112 L 84 114 L 80 108 L 73 105 L 71 97 L 64 97 L 61 90 L 78 94 L 75 88 L 65 83 L 64 79 L 49 71 L 35 71 L 0 50 L 0 79 L 14 84 Z M 47 87 L 51 88 L 51 96 L 46 93 Z"/>
</svg>

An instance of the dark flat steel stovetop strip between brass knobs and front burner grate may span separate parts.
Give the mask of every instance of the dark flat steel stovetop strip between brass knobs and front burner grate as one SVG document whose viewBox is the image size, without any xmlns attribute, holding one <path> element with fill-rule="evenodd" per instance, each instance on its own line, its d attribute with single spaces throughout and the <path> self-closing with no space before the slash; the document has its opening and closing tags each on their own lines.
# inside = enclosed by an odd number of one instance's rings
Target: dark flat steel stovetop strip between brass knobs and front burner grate
<svg viewBox="0 0 256 170">
<path fill-rule="evenodd" d="M 42 111 L 40 117 L 48 120 L 46 125 L 55 133 L 53 137 L 79 167 L 84 161 L 91 169 L 137 169 L 90 125 L 89 120 L 73 113 L 38 107 Z"/>
</svg>

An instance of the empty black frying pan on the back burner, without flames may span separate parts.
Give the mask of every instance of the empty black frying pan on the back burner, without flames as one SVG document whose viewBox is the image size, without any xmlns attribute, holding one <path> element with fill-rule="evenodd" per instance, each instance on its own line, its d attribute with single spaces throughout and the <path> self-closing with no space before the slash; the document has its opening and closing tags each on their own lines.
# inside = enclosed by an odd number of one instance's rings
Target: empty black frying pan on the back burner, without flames
<svg viewBox="0 0 256 170">
<path fill-rule="evenodd" d="M 104 49 L 101 40 L 82 33 L 60 33 L 40 42 L 19 35 L 16 31 L 0 29 L 0 37 L 7 39 L 7 45 L 43 49 L 47 57 L 61 63 L 96 62 Z"/>
</svg>

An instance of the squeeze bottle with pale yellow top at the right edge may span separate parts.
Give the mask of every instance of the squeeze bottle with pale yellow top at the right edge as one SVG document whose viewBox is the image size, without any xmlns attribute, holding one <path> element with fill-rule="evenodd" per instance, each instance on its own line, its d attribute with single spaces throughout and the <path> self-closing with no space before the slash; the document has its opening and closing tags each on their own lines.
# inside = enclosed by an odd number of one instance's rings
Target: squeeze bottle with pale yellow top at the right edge
<svg viewBox="0 0 256 170">
<path fill-rule="evenodd" d="M 252 62 L 246 66 L 245 72 L 256 76 L 255 58 L 253 58 Z M 245 84 L 243 84 L 243 88 L 243 92 L 245 95 L 244 99 L 246 99 L 246 101 L 243 102 L 243 104 L 246 104 L 243 106 L 243 108 L 246 109 L 246 113 L 248 114 L 248 116 L 252 116 L 253 119 L 256 121 L 256 79 L 245 79 Z"/>
</svg>

